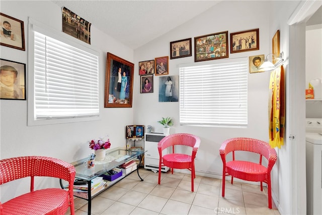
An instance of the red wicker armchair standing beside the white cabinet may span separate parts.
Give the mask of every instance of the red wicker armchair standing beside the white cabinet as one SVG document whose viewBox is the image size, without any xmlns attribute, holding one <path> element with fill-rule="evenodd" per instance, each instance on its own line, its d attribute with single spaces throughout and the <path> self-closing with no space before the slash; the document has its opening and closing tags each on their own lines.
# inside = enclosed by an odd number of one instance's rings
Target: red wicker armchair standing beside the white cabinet
<svg viewBox="0 0 322 215">
<path fill-rule="evenodd" d="M 175 146 L 187 146 L 192 148 L 192 155 L 175 154 Z M 189 133 L 176 133 L 165 136 L 157 144 L 159 151 L 159 177 L 158 184 L 161 180 L 161 168 L 167 166 L 173 169 L 188 169 L 191 171 L 191 191 L 194 191 L 195 174 L 195 158 L 200 145 L 200 138 Z M 172 154 L 162 155 L 162 151 L 168 147 L 172 147 Z"/>
</svg>

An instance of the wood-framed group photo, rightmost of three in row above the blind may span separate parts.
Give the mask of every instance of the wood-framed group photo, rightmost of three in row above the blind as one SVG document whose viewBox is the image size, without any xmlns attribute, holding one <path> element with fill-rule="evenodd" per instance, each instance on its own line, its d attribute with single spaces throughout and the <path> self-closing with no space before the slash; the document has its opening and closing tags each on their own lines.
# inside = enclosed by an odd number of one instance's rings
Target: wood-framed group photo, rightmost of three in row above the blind
<svg viewBox="0 0 322 215">
<path fill-rule="evenodd" d="M 230 53 L 260 49 L 259 28 L 230 33 Z"/>
</svg>

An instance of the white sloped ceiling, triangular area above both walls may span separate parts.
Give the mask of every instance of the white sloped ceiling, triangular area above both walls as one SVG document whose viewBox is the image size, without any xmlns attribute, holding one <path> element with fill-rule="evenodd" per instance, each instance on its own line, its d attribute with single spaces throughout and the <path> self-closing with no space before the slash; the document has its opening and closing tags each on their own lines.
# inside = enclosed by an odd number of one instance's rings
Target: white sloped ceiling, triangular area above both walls
<svg viewBox="0 0 322 215">
<path fill-rule="evenodd" d="M 136 49 L 220 1 L 52 1 Z"/>
</svg>

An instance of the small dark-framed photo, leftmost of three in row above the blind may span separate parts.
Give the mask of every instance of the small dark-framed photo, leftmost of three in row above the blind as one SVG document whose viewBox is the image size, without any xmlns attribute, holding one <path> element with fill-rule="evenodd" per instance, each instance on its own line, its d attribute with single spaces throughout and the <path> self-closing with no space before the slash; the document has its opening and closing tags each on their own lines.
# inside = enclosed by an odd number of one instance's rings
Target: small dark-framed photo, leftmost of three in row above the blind
<svg viewBox="0 0 322 215">
<path fill-rule="evenodd" d="M 170 59 L 192 56 L 191 38 L 170 42 Z"/>
</svg>

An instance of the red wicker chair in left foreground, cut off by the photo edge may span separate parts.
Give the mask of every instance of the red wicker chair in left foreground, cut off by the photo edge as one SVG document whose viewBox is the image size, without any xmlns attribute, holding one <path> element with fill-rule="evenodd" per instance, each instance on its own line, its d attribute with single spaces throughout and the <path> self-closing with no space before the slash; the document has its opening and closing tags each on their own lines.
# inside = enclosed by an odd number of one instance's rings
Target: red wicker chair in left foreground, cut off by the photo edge
<svg viewBox="0 0 322 215">
<path fill-rule="evenodd" d="M 34 191 L 35 176 L 56 177 L 68 181 L 68 190 L 46 188 Z M 31 177 L 30 192 L 0 203 L 0 214 L 65 214 L 68 206 L 70 206 L 70 213 L 74 214 L 74 166 L 59 159 L 41 156 L 9 158 L 0 161 L 0 185 L 25 177 Z"/>
</svg>

